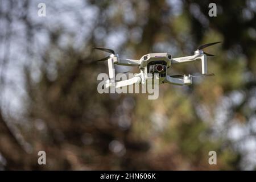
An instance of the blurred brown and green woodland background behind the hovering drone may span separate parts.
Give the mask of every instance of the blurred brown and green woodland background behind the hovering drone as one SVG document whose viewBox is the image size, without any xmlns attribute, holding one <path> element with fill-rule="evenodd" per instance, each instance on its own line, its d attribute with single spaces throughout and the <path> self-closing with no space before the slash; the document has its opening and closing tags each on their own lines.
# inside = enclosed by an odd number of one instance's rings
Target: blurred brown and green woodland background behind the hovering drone
<svg viewBox="0 0 256 182">
<path fill-rule="evenodd" d="M 0 169 L 256 169 L 255 28 L 254 0 L 1 0 Z M 160 85 L 158 100 L 97 92 L 108 68 L 93 47 L 139 59 L 217 41 L 205 48 L 214 77 Z M 169 73 L 200 71 L 199 61 Z"/>
</svg>

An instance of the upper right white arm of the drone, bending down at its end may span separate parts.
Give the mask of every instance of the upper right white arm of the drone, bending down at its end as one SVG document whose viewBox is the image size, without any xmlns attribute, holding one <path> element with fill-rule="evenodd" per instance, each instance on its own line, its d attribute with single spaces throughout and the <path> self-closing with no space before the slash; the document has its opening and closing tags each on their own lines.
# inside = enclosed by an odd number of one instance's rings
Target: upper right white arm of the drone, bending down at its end
<svg viewBox="0 0 256 182">
<path fill-rule="evenodd" d="M 185 63 L 189 61 L 201 60 L 202 74 L 207 74 L 207 56 L 203 53 L 196 53 L 193 56 L 176 57 L 173 58 L 171 64 Z"/>
</svg>

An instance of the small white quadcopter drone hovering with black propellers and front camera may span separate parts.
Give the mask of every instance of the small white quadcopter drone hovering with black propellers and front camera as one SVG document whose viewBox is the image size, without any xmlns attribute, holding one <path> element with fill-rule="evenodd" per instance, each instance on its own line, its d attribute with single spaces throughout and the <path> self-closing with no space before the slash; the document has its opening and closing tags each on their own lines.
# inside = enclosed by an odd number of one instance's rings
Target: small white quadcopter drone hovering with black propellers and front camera
<svg viewBox="0 0 256 182">
<path fill-rule="evenodd" d="M 129 86 L 133 84 L 146 84 L 148 78 L 158 78 L 159 84 L 174 84 L 174 85 L 191 85 L 193 77 L 199 76 L 214 76 L 213 73 L 207 73 L 207 56 L 214 56 L 203 51 L 203 48 L 213 46 L 221 42 L 213 42 L 203 44 L 197 47 L 194 55 L 172 58 L 170 53 L 148 53 L 139 60 L 134 59 L 121 59 L 113 49 L 94 47 L 95 49 L 110 53 L 109 56 L 96 61 L 108 61 L 109 80 L 105 82 L 105 88 L 114 86 L 115 88 L 121 88 L 123 86 Z M 201 60 L 201 74 L 200 75 L 167 75 L 167 69 L 172 64 L 185 63 Z M 133 78 L 117 81 L 114 78 L 114 64 L 122 66 L 139 67 L 140 73 L 135 74 Z"/>
</svg>

